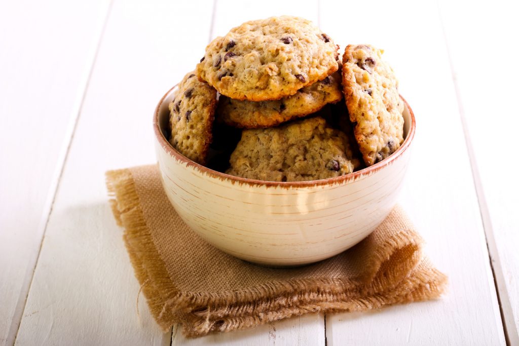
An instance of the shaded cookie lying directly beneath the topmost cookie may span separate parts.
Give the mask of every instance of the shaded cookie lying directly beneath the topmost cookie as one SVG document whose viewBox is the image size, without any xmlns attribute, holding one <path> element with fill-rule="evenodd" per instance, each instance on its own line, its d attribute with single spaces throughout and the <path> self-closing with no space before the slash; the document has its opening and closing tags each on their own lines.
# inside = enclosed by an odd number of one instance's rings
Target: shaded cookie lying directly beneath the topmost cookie
<svg viewBox="0 0 519 346">
<path fill-rule="evenodd" d="M 315 113 L 327 103 L 343 99 L 340 71 L 298 90 L 294 95 L 274 101 L 239 101 L 220 96 L 216 118 L 238 128 L 256 129 Z"/>
</svg>

